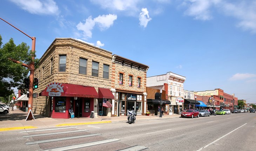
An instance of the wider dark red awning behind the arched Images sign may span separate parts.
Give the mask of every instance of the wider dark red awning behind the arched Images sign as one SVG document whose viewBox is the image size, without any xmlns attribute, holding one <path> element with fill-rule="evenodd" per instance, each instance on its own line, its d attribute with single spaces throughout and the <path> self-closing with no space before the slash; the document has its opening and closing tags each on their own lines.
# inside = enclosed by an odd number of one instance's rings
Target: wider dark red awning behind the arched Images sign
<svg viewBox="0 0 256 151">
<path fill-rule="evenodd" d="M 66 96 L 66 97 L 90 97 L 90 98 L 99 98 L 99 95 L 97 94 L 97 91 L 94 87 L 86 87 L 83 85 L 76 85 L 76 84 L 67 84 L 62 83 L 61 86 L 63 86 L 63 92 L 61 92 L 60 96 Z M 49 96 L 49 92 L 45 90 L 40 92 L 39 96 Z"/>
</svg>

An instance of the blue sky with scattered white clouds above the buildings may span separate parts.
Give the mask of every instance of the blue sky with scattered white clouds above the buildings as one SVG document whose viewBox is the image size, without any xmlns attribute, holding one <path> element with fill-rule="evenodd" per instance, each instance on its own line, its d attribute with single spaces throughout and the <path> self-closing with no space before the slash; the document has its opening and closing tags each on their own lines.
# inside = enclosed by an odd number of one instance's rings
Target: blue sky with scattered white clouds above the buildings
<svg viewBox="0 0 256 151">
<path fill-rule="evenodd" d="M 36 58 L 73 38 L 256 103 L 256 0 L 1 0 L 0 17 L 36 37 Z M 32 40 L 0 20 L 3 44 Z"/>
</svg>

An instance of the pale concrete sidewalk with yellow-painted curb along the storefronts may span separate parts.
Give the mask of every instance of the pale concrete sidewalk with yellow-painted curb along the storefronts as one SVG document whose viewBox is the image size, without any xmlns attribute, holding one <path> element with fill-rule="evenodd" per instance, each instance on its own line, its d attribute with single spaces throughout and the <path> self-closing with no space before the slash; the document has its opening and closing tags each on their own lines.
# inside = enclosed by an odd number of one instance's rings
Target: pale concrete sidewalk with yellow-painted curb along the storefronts
<svg viewBox="0 0 256 151">
<path fill-rule="evenodd" d="M 7 115 L 0 115 L 0 131 L 16 130 L 16 129 L 28 129 L 28 128 L 48 128 L 55 126 L 75 126 L 75 125 L 87 125 L 87 124 L 98 124 L 98 123 L 112 123 L 112 122 L 126 122 L 127 116 L 119 117 L 106 117 L 99 116 L 97 118 L 69 118 L 69 119 L 58 119 L 44 117 L 38 114 L 33 114 L 35 120 L 25 121 L 27 117 L 27 112 L 16 109 L 14 111 L 10 110 Z M 162 118 L 175 118 L 180 117 L 180 115 L 164 115 Z M 139 120 L 150 120 L 150 119 L 161 119 L 157 116 L 136 116 L 136 121 Z M 11 129 L 10 129 L 11 128 Z"/>
</svg>

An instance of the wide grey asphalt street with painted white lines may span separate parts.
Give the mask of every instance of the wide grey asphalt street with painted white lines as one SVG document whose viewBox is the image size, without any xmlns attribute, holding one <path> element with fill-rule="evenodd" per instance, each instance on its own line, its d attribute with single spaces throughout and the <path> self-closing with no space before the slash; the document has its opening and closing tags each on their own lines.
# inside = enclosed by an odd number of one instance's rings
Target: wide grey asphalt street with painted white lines
<svg viewBox="0 0 256 151">
<path fill-rule="evenodd" d="M 64 127 L 68 129 L 23 133 L 6 131 L 0 137 L 1 150 L 5 151 L 255 151 L 255 126 L 256 114 L 242 113 L 199 118 L 159 118 L 135 121 L 133 124 L 116 122 L 79 125 Z M 48 142 L 52 139 L 58 140 Z"/>
</svg>

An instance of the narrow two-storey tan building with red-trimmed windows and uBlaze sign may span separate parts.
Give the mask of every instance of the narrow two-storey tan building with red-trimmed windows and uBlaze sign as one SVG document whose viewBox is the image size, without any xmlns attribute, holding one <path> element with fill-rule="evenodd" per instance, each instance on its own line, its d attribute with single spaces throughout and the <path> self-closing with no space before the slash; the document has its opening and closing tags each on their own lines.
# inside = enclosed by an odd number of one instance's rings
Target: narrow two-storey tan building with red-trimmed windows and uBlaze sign
<svg viewBox="0 0 256 151">
<path fill-rule="evenodd" d="M 149 66 L 124 57 L 112 56 L 111 91 L 114 111 L 112 116 L 127 114 L 136 110 L 137 115 L 146 114 L 146 77 Z"/>
</svg>

